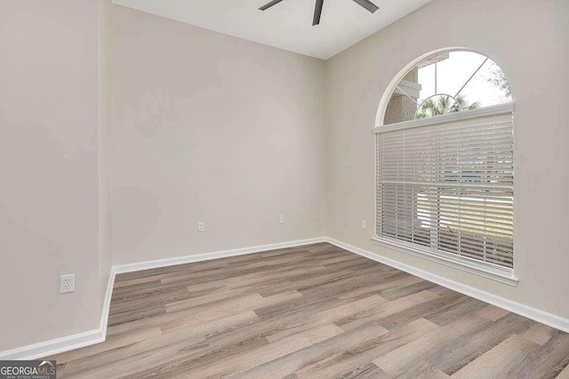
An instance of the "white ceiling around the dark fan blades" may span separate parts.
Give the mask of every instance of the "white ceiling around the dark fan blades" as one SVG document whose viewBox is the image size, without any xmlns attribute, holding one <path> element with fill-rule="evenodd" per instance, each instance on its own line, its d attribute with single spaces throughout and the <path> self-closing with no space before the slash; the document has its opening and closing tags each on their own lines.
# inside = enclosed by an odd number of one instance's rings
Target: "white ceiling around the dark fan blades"
<svg viewBox="0 0 569 379">
<path fill-rule="evenodd" d="M 143 12 L 230 36 L 329 59 L 431 0 L 372 0 L 367 12 L 353 0 L 325 0 L 320 25 L 312 27 L 315 0 L 113 0 Z"/>
</svg>

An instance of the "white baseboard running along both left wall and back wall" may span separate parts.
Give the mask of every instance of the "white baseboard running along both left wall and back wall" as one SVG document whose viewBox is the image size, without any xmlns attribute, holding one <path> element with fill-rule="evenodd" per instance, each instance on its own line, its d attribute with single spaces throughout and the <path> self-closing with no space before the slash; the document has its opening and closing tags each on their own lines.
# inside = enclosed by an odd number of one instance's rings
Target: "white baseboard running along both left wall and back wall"
<svg viewBox="0 0 569 379">
<path fill-rule="evenodd" d="M 90 346 L 96 343 L 105 342 L 107 339 L 107 326 L 108 326 L 108 311 L 110 309 L 110 300 L 113 296 L 113 287 L 117 273 L 135 272 L 141 270 L 148 270 L 158 267 L 166 267 L 170 265 L 181 265 L 193 262 L 202 262 L 211 259 L 218 259 L 224 257 L 243 256 L 244 254 L 260 253 L 262 251 L 294 248 L 297 246 L 310 245 L 313 243 L 324 242 L 325 237 L 311 238 L 308 240 L 288 241 L 281 243 L 273 243 L 269 245 L 253 246 L 243 249 L 230 249 L 223 251 L 216 251 L 212 253 L 196 254 L 187 257 L 175 257 L 168 259 L 160 259 L 156 261 L 141 262 L 131 265 L 116 265 L 113 266 L 108 278 L 107 292 L 102 307 L 100 317 L 100 327 L 97 329 L 89 330 L 72 336 L 64 336 L 42 343 L 34 343 L 28 346 L 23 346 L 9 351 L 0 351 L 0 359 L 2 360 L 18 360 L 18 359 L 40 359 L 50 357 L 65 351 L 79 349 L 85 346 Z"/>
</svg>

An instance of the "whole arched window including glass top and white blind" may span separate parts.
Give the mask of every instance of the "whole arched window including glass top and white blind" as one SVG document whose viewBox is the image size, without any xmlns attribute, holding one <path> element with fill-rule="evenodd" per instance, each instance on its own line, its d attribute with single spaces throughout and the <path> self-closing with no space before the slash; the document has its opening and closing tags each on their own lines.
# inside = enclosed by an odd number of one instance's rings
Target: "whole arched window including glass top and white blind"
<svg viewBox="0 0 569 379">
<path fill-rule="evenodd" d="M 376 141 L 377 243 L 515 284 L 513 110 L 506 76 L 438 51 L 386 91 Z"/>
</svg>

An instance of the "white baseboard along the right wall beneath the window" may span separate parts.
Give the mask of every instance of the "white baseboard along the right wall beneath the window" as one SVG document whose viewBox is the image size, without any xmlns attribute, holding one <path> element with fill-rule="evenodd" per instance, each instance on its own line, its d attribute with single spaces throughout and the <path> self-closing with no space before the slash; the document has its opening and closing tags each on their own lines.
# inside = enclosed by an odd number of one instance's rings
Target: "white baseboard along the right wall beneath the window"
<svg viewBox="0 0 569 379">
<path fill-rule="evenodd" d="M 527 317 L 528 319 L 541 322 L 542 324 L 549 325 L 549 327 L 557 328 L 569 333 L 569 320 L 559 317 L 555 314 L 544 312 L 539 309 L 533 308 L 529 305 L 517 303 L 515 301 L 509 300 L 505 297 L 496 296 L 489 292 L 482 291 L 477 288 L 467 286 L 465 284 L 459 283 L 458 281 L 446 279 L 445 277 L 439 276 L 432 272 L 427 272 L 412 265 L 405 265 L 404 263 L 398 262 L 394 259 L 388 257 L 382 257 L 379 254 L 372 253 L 365 249 L 360 249 L 355 246 L 349 245 L 341 241 L 334 240 L 333 238 L 326 237 L 326 242 L 333 244 L 341 249 L 351 251 L 358 256 L 366 257 L 372 259 L 376 262 L 380 262 L 384 265 L 389 265 L 391 267 L 397 268 L 398 270 L 411 273 L 412 275 L 418 276 L 424 280 L 432 281 L 440 286 L 453 289 L 461 294 L 474 297 L 485 303 L 493 304 L 499 306 L 509 312 L 517 313 L 521 316 Z"/>
</svg>

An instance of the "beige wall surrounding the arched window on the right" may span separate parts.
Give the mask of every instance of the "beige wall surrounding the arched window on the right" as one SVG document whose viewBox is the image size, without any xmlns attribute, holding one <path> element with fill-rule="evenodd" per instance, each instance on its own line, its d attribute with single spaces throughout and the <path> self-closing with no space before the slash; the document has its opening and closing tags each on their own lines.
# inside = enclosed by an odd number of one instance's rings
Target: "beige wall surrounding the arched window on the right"
<svg viewBox="0 0 569 379">
<path fill-rule="evenodd" d="M 328 235 L 569 317 L 569 2 L 435 0 L 327 62 Z M 373 245 L 373 136 L 391 80 L 413 59 L 462 46 L 509 77 L 515 114 L 517 288 Z M 559 75 L 563 73 L 563 75 Z M 368 230 L 360 229 L 360 220 Z"/>
</svg>

